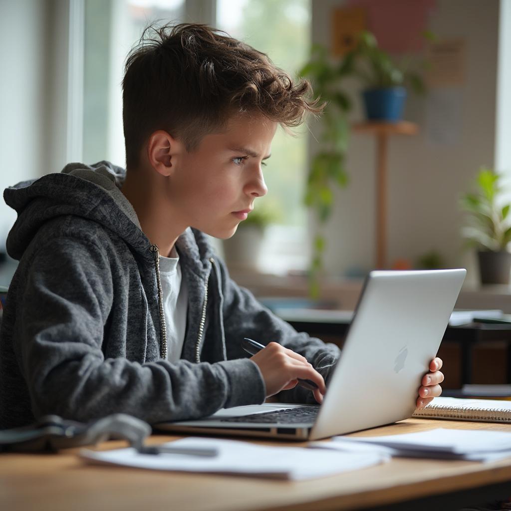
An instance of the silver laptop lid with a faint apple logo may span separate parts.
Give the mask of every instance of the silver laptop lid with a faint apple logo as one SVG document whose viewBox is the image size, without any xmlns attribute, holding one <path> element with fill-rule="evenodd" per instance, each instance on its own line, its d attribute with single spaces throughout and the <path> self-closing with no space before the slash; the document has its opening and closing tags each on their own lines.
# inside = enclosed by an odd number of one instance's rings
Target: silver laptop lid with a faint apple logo
<svg viewBox="0 0 511 511">
<path fill-rule="evenodd" d="M 372 271 L 311 439 L 410 417 L 467 271 Z"/>
</svg>

